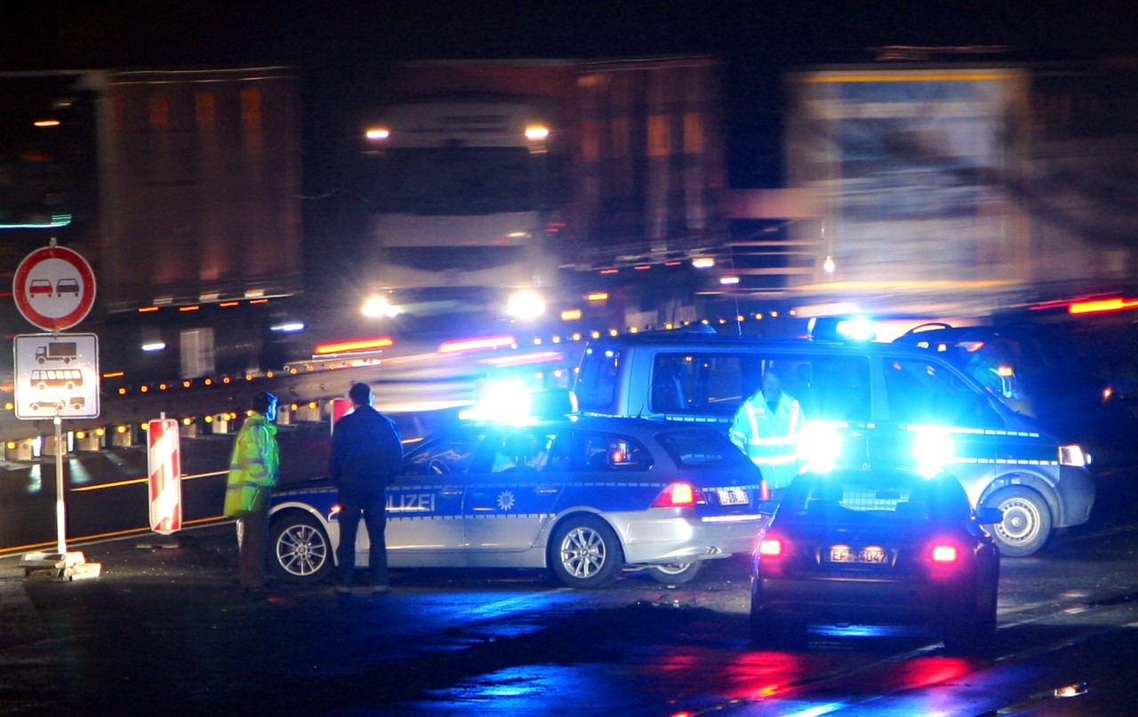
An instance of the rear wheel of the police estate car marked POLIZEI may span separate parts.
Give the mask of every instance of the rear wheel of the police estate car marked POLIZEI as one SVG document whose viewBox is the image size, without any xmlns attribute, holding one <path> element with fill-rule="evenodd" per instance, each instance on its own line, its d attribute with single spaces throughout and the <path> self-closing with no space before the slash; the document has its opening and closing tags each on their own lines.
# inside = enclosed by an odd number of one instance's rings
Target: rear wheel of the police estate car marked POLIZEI
<svg viewBox="0 0 1138 717">
<path fill-rule="evenodd" d="M 609 524 L 596 516 L 571 516 L 553 530 L 550 569 L 569 587 L 602 587 L 617 579 L 625 557 Z"/>
</svg>

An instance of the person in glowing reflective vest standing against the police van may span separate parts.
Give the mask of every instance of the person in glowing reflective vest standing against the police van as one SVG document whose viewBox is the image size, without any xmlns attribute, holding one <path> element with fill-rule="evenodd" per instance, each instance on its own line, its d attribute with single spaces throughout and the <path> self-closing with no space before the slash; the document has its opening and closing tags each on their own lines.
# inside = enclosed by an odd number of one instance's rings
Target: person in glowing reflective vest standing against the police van
<svg viewBox="0 0 1138 717">
<path fill-rule="evenodd" d="M 762 387 L 735 412 L 731 440 L 759 467 L 772 491 L 786 487 L 798 470 L 794 444 L 802 420 L 802 407 L 782 390 L 770 366 L 762 373 Z"/>
</svg>

